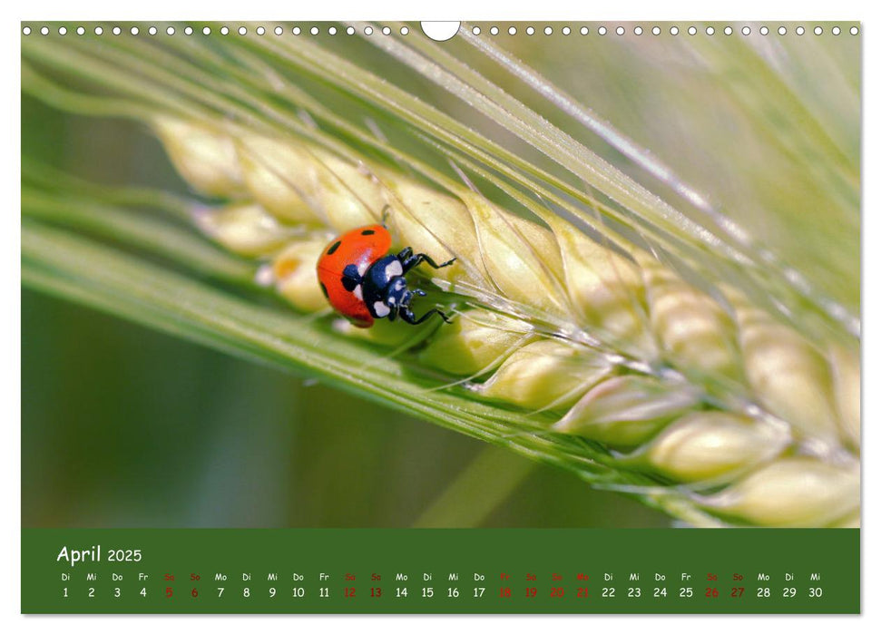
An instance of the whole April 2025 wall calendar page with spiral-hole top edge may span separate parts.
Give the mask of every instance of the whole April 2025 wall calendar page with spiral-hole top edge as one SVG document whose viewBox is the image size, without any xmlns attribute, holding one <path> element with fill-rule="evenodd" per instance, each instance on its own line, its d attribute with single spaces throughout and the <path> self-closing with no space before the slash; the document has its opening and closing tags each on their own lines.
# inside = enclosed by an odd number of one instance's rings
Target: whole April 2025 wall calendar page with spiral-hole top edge
<svg viewBox="0 0 881 635">
<path fill-rule="evenodd" d="M 20 30 L 21 612 L 860 612 L 860 23 Z"/>
</svg>

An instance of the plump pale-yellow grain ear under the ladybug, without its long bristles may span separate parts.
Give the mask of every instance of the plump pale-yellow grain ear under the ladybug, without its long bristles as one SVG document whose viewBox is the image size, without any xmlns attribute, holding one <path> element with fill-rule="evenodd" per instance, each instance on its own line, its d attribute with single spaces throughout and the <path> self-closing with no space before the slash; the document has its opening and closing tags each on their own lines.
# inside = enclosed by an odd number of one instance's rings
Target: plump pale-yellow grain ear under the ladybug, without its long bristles
<svg viewBox="0 0 881 635">
<path fill-rule="evenodd" d="M 842 347 L 816 347 L 735 289 L 713 297 L 635 245 L 622 254 L 621 239 L 524 220 L 453 182 L 438 190 L 305 142 L 155 126 L 194 189 L 239 200 L 202 210 L 201 228 L 266 259 L 261 281 L 296 308 L 324 307 L 314 269 L 328 236 L 390 210 L 396 245 L 457 259 L 432 272 L 435 300 L 465 298 L 414 351 L 421 364 L 558 414 L 549 431 L 602 443 L 729 522 L 857 522 L 859 367 Z M 223 164 L 205 174 L 205 156 Z"/>
</svg>

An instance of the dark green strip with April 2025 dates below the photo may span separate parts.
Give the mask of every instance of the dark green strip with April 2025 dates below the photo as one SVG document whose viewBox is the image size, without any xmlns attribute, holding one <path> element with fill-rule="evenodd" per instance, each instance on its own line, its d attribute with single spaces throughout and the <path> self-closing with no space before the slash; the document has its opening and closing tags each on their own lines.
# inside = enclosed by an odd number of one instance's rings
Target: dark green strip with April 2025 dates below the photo
<svg viewBox="0 0 881 635">
<path fill-rule="evenodd" d="M 24 613 L 858 613 L 856 529 L 24 529 Z"/>
</svg>

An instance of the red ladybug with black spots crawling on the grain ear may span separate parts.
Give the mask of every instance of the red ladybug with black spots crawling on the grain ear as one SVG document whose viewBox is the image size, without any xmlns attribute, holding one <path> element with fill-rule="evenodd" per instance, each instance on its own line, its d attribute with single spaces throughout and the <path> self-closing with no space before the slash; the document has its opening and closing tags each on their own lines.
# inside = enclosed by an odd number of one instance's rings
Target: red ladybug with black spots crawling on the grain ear
<svg viewBox="0 0 881 635">
<path fill-rule="evenodd" d="M 318 258 L 318 283 L 330 306 L 356 327 L 373 326 L 374 319 L 400 317 L 407 324 L 421 324 L 437 314 L 432 308 L 421 318 L 410 309 L 414 296 L 425 296 L 421 289 L 406 288 L 406 273 L 422 262 L 435 269 L 448 267 L 455 258 L 437 264 L 426 254 L 414 254 L 407 247 L 397 255 L 388 250 L 392 237 L 385 225 L 367 225 L 332 240 Z"/>
</svg>

